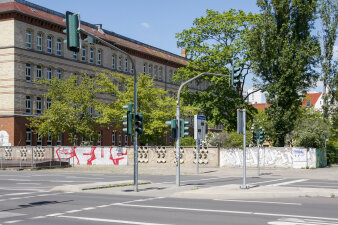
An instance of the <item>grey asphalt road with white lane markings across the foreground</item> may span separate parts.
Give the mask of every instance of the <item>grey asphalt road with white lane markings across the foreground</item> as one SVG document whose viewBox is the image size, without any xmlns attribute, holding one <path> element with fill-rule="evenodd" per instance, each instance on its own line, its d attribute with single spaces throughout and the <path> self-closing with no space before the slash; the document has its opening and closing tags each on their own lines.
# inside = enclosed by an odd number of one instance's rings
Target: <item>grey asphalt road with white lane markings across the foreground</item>
<svg viewBox="0 0 338 225">
<path fill-rule="evenodd" d="M 338 198 L 198 200 L 50 192 L 50 188 L 131 180 L 132 175 L 0 171 L 0 224 L 338 224 Z M 241 184 L 239 177 L 182 176 L 182 185 Z M 175 176 L 140 175 L 153 183 Z M 338 188 L 338 181 L 251 177 L 250 185 Z"/>
</svg>

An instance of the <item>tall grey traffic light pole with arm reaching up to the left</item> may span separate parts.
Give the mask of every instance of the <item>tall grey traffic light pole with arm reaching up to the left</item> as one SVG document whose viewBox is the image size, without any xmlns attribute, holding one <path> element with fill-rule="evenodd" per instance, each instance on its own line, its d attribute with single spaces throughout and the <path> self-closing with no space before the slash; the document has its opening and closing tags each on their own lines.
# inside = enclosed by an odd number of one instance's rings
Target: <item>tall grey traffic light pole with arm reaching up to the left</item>
<svg viewBox="0 0 338 225">
<path fill-rule="evenodd" d="M 135 66 L 134 60 L 131 58 L 131 56 L 128 53 L 110 44 L 109 42 L 101 39 L 95 34 L 89 33 L 81 29 L 81 27 L 79 27 L 78 32 L 82 32 L 88 36 L 91 36 L 94 39 L 100 41 L 101 43 L 107 45 L 109 48 L 115 49 L 116 51 L 119 51 L 128 57 L 128 59 L 131 62 L 131 66 L 133 68 L 133 75 L 134 75 L 134 113 L 136 116 L 137 115 L 137 75 L 136 75 L 136 66 Z M 134 191 L 138 192 L 138 150 L 137 150 L 137 132 L 136 131 L 134 131 Z"/>
</svg>

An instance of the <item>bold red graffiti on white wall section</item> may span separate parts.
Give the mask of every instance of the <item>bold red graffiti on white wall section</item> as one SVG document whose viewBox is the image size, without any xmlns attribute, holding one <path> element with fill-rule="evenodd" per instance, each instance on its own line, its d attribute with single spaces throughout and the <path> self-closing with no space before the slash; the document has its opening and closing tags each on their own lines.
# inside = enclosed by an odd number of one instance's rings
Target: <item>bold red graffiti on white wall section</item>
<svg viewBox="0 0 338 225">
<path fill-rule="evenodd" d="M 69 147 L 55 150 L 59 160 L 68 159 L 75 165 L 127 165 L 127 149 L 123 147 Z"/>
</svg>

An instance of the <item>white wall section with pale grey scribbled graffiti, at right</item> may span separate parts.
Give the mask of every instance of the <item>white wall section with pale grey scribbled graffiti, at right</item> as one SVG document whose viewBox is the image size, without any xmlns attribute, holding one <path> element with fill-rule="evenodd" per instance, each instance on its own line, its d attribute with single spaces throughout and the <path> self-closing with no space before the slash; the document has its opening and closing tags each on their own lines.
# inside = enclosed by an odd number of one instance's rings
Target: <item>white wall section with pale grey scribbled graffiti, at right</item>
<svg viewBox="0 0 338 225">
<path fill-rule="evenodd" d="M 315 168 L 316 152 L 315 149 L 305 148 L 247 148 L 246 165 L 255 167 L 258 162 L 260 166 L 265 167 Z M 221 150 L 220 166 L 241 167 L 242 165 L 242 149 Z"/>
</svg>

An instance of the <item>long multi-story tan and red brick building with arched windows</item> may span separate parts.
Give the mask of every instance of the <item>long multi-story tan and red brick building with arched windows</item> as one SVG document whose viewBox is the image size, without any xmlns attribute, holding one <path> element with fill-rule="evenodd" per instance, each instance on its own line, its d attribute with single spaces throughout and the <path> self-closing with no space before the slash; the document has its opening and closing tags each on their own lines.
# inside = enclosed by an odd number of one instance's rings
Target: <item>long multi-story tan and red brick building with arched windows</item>
<svg viewBox="0 0 338 225">
<path fill-rule="evenodd" d="M 172 76 L 179 67 L 187 65 L 184 55 L 175 55 L 86 22 L 81 23 L 81 28 L 130 54 L 136 66 L 132 68 L 126 55 L 102 44 L 82 42 L 79 53 L 71 52 L 64 44 L 64 17 L 62 13 L 25 0 L 0 0 L 0 141 L 3 145 L 70 144 L 64 136 L 58 140 L 41 140 L 26 127 L 27 117 L 41 113 L 51 104 L 49 99 L 44 99 L 44 90 L 32 82 L 36 78 L 91 74 L 98 69 L 131 75 L 135 69 L 137 73 L 151 74 L 158 87 L 172 93 L 178 89 Z M 205 88 L 204 85 L 197 87 L 196 83 L 190 87 Z M 102 139 L 97 144 L 130 144 L 122 132 L 99 132 Z"/>
</svg>

